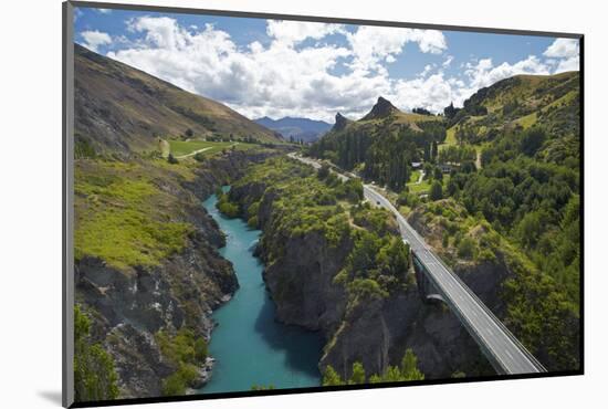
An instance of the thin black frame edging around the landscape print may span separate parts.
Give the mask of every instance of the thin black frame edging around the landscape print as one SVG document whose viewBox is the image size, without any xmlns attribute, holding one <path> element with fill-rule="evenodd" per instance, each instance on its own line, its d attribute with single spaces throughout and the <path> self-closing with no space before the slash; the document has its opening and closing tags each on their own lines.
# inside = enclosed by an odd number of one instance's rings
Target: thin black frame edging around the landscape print
<svg viewBox="0 0 608 409">
<path fill-rule="evenodd" d="M 242 11 L 226 11 L 226 10 L 205 10 L 205 9 L 187 9 L 174 7 L 153 7 L 144 4 L 120 4 L 120 3 L 103 3 L 87 1 L 67 1 L 63 3 L 63 406 L 64 407 L 101 407 L 114 405 L 135 405 L 135 403 L 153 403 L 153 402 L 172 402 L 172 401 L 189 401 L 189 400 L 206 400 L 206 399 L 223 399 L 223 398 L 240 398 L 253 396 L 269 395 L 287 395 L 287 394 L 308 394 L 337 390 L 354 390 L 354 389 L 376 389 L 376 388 L 395 388 L 405 386 L 418 385 L 442 385 L 442 384 L 460 384 L 460 382 L 476 382 L 490 380 L 507 380 L 507 379 L 533 379 L 556 376 L 576 376 L 583 375 L 584 370 L 584 258 L 580 258 L 580 319 L 579 319 L 579 357 L 580 367 L 574 370 L 566 371 L 549 371 L 539 374 L 523 374 L 523 375 L 495 375 L 484 377 L 465 377 L 465 378 L 445 378 L 430 380 L 415 380 L 407 382 L 390 382 L 390 384 L 365 384 L 365 385 L 345 385 L 332 387 L 307 387 L 307 388 L 290 388 L 276 390 L 249 390 L 235 392 L 221 392 L 209 395 L 187 395 L 178 397 L 150 397 L 150 398 L 134 398 L 134 399 L 116 399 L 74 402 L 73 391 L 73 349 L 74 349 L 74 28 L 73 13 L 74 8 L 104 8 L 132 11 L 149 11 L 149 12 L 170 12 L 186 14 L 205 14 L 219 17 L 242 17 L 242 18 L 261 18 L 276 20 L 293 20 L 293 21 L 311 21 L 324 23 L 346 23 L 358 25 L 377 25 L 377 27 L 395 27 L 410 29 L 434 29 L 444 31 L 462 31 L 474 33 L 495 33 L 495 34 L 525 34 L 532 36 L 558 36 L 567 39 L 576 39 L 579 41 L 579 95 L 580 95 L 580 161 L 579 161 L 579 188 L 580 188 L 580 253 L 584 254 L 584 144 L 585 144 L 585 127 L 584 127 L 584 92 L 585 92 L 585 36 L 580 33 L 565 32 L 544 32 L 544 31 L 522 31 L 507 30 L 484 27 L 459 27 L 443 24 L 424 24 L 415 22 L 398 22 L 398 21 L 373 21 L 359 19 L 344 19 L 339 17 L 319 17 L 319 15 L 291 15 L 275 13 L 256 13 Z"/>
</svg>

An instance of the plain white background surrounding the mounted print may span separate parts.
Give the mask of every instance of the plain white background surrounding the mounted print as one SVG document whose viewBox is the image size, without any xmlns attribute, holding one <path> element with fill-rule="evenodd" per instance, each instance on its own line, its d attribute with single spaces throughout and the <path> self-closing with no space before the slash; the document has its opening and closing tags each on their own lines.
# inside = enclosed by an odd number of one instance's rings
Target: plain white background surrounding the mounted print
<svg viewBox="0 0 608 409">
<path fill-rule="evenodd" d="M 123 2 L 135 2 L 123 0 Z M 586 375 L 157 405 L 155 408 L 606 407 L 608 32 L 601 1 L 139 0 L 148 4 L 581 32 Z M 0 406 L 61 401 L 61 1 L 3 1 L 0 22 Z M 602 160 L 604 159 L 604 160 Z M 149 406 L 147 406 L 149 407 Z M 151 408 L 151 407 L 150 407 Z"/>
</svg>

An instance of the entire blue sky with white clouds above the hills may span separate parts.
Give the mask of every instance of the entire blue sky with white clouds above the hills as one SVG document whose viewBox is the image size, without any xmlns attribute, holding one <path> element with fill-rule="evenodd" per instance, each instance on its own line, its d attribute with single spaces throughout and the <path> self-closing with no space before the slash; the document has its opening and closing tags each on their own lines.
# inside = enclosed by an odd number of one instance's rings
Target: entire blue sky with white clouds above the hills
<svg viewBox="0 0 608 409">
<path fill-rule="evenodd" d="M 75 41 L 254 118 L 409 111 L 578 69 L 575 40 L 77 8 Z"/>
</svg>

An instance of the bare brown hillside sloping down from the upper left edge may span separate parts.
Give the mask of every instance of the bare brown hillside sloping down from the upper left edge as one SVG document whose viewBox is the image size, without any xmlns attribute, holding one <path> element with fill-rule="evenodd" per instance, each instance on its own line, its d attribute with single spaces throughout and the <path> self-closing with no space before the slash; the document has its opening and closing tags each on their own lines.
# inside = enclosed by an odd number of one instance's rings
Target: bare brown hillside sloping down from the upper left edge
<svg viewBox="0 0 608 409">
<path fill-rule="evenodd" d="M 214 101 L 74 44 L 76 155 L 156 149 L 158 139 L 222 137 L 282 143 Z"/>
</svg>

